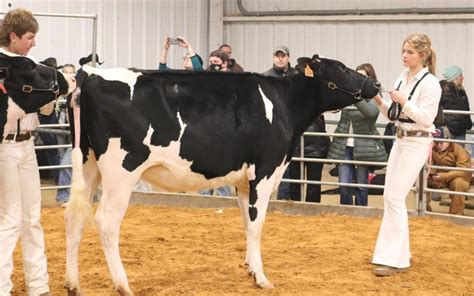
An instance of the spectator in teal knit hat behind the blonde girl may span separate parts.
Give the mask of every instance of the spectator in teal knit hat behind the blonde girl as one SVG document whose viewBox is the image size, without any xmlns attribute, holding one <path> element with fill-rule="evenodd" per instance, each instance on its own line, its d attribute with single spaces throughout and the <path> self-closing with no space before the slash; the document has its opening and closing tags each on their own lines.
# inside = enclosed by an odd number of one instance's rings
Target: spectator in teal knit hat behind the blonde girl
<svg viewBox="0 0 474 296">
<path fill-rule="evenodd" d="M 440 104 L 445 110 L 469 111 L 469 99 L 463 87 L 464 76 L 458 66 L 449 66 L 444 70 L 445 80 L 440 81 Z M 456 140 L 466 140 L 466 131 L 472 128 L 470 115 L 446 114 L 444 121 L 451 135 Z M 460 144 L 464 147 L 464 143 Z"/>
</svg>

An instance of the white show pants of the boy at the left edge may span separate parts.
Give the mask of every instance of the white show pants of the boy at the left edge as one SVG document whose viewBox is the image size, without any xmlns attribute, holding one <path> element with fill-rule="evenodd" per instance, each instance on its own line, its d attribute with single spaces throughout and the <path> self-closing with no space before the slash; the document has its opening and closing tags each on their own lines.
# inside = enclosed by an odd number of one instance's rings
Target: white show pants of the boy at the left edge
<svg viewBox="0 0 474 296">
<path fill-rule="evenodd" d="M 13 251 L 21 235 L 28 295 L 49 291 L 40 224 L 41 191 L 33 138 L 0 144 L 0 296 L 10 295 Z"/>
</svg>

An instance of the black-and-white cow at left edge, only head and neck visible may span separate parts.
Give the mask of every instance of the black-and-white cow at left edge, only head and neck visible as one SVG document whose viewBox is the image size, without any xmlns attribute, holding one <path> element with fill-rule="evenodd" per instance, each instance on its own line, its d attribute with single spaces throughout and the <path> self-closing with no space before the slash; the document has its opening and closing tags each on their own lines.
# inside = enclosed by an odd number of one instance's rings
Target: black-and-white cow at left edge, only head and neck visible
<svg viewBox="0 0 474 296">
<path fill-rule="evenodd" d="M 22 56 L 0 53 L 0 142 L 26 113 L 76 88 L 73 77 Z"/>
</svg>

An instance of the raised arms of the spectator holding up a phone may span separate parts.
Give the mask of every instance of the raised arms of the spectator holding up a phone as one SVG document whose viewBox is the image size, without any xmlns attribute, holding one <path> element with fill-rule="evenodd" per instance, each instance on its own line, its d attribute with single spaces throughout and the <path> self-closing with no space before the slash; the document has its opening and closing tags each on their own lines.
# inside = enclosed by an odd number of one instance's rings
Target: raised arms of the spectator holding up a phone
<svg viewBox="0 0 474 296">
<path fill-rule="evenodd" d="M 191 44 L 184 39 L 183 37 L 177 37 L 174 42 L 177 42 L 177 45 L 182 48 L 186 48 L 188 52 L 183 57 L 183 68 L 185 70 L 195 70 L 200 71 L 203 70 L 203 62 L 201 57 L 194 52 L 193 47 Z M 168 50 L 171 45 L 171 39 L 168 36 L 165 36 L 163 40 L 163 53 L 160 57 L 160 65 L 158 66 L 158 70 L 169 70 L 167 66 L 168 60 Z"/>
</svg>

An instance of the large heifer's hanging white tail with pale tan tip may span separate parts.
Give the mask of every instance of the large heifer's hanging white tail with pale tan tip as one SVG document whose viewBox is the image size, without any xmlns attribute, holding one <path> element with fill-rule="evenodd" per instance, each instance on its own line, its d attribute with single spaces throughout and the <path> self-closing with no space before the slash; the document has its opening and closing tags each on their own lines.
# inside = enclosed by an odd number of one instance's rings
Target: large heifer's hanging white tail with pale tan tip
<svg viewBox="0 0 474 296">
<path fill-rule="evenodd" d="M 94 221 L 92 214 L 92 206 L 90 203 L 90 194 L 87 190 L 84 175 L 83 175 L 83 156 L 80 146 L 81 139 L 81 109 L 78 104 L 78 97 L 80 94 L 80 89 L 72 95 L 71 107 L 73 108 L 73 121 L 74 121 L 74 130 L 71 131 L 74 133 L 72 137 L 74 139 L 73 149 L 72 149 L 72 182 L 71 182 L 71 194 L 69 197 L 69 202 L 66 208 L 65 215 L 72 220 L 72 223 L 81 223 L 84 218 L 90 222 Z"/>
</svg>

